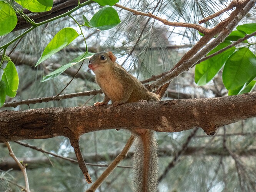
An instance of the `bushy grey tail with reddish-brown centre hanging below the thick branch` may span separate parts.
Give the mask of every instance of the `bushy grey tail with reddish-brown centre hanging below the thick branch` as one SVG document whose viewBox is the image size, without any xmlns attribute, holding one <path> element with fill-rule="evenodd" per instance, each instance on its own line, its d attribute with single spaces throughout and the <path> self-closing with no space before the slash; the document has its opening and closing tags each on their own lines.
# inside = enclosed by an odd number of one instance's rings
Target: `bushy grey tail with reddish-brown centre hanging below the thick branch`
<svg viewBox="0 0 256 192">
<path fill-rule="evenodd" d="M 135 192 L 154 192 L 158 185 L 157 142 L 153 130 L 135 139 L 133 156 L 133 185 Z"/>
</svg>

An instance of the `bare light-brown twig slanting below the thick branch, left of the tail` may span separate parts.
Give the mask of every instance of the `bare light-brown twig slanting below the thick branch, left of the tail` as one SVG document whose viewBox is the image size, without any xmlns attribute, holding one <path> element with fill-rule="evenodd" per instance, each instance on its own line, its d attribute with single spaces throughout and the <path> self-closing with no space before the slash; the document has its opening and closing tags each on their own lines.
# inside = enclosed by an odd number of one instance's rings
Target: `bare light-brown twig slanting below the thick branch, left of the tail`
<svg viewBox="0 0 256 192">
<path fill-rule="evenodd" d="M 91 187 L 86 191 L 86 192 L 93 192 L 95 191 L 101 184 L 102 182 L 108 177 L 108 175 L 115 169 L 115 167 L 123 160 L 125 159 L 131 145 L 133 144 L 134 141 L 134 136 L 132 135 L 130 139 L 128 139 L 125 147 L 121 151 L 121 153 L 116 157 L 116 159 L 111 162 L 110 166 L 103 172 L 103 174 L 100 175 L 100 177 L 91 185 Z"/>
</svg>

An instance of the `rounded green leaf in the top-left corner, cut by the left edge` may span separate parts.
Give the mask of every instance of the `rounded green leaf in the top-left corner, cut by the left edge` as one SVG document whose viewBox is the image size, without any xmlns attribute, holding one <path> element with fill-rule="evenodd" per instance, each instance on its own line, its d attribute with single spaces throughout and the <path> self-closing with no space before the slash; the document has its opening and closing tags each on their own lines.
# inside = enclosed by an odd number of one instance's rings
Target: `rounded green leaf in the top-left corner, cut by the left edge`
<svg viewBox="0 0 256 192">
<path fill-rule="evenodd" d="M 12 6 L 0 1 L 0 36 L 10 33 L 17 24 L 17 16 Z"/>
</svg>

